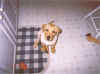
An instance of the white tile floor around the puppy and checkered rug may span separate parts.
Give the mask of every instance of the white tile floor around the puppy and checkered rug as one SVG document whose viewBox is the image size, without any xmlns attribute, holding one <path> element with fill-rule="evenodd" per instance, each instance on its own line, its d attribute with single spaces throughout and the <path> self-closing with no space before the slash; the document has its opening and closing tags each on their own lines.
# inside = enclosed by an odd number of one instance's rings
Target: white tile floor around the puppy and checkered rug
<svg viewBox="0 0 100 74">
<path fill-rule="evenodd" d="M 100 45 L 86 40 L 85 34 L 93 31 L 81 20 L 91 9 L 81 4 L 22 0 L 19 27 L 41 26 L 53 19 L 63 29 L 56 54 L 51 56 L 51 65 L 44 74 L 100 74 Z"/>
</svg>

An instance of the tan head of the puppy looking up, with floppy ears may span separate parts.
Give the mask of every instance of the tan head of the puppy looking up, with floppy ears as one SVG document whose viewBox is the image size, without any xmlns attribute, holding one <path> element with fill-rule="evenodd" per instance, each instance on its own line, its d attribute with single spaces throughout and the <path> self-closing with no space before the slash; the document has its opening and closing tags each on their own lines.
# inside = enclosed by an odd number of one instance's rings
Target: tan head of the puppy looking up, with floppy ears
<svg viewBox="0 0 100 74">
<path fill-rule="evenodd" d="M 45 35 L 45 40 L 52 41 L 55 36 L 58 36 L 62 30 L 55 24 L 43 24 L 42 31 Z"/>
</svg>

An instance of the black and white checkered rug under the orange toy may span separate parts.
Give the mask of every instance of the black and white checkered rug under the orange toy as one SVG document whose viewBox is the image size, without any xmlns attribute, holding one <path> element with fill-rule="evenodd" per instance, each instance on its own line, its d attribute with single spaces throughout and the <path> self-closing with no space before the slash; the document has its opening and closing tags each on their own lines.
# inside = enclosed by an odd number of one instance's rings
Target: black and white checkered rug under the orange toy
<svg viewBox="0 0 100 74">
<path fill-rule="evenodd" d="M 38 48 L 33 48 L 34 40 L 37 38 L 37 32 L 40 28 L 21 28 L 18 29 L 17 35 L 17 50 L 16 50 L 16 73 L 39 73 L 47 64 L 47 53 L 40 51 Z M 22 71 L 19 63 L 24 62 L 27 65 L 27 70 Z"/>
</svg>

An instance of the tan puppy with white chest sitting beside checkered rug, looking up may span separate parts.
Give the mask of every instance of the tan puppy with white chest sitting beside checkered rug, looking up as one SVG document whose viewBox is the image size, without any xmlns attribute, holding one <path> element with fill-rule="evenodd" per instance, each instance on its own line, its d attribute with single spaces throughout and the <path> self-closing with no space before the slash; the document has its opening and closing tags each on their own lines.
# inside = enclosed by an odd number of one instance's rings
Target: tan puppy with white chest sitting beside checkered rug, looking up
<svg viewBox="0 0 100 74">
<path fill-rule="evenodd" d="M 55 45 L 62 30 L 53 23 L 54 21 L 51 21 L 48 24 L 42 25 L 38 38 L 34 43 L 35 48 L 38 46 L 38 43 L 41 42 L 42 51 L 47 51 L 49 53 L 49 47 L 51 47 L 51 52 L 55 53 Z"/>
</svg>

